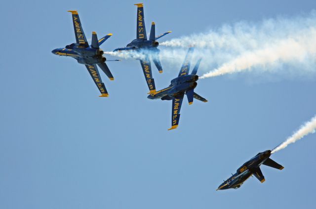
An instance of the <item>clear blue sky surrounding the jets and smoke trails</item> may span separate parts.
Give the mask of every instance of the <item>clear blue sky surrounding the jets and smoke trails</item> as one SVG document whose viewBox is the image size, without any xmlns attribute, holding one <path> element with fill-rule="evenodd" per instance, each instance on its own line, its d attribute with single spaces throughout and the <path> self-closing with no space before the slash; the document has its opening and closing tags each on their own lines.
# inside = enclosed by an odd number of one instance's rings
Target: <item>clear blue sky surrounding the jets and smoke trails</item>
<svg viewBox="0 0 316 209">
<path fill-rule="evenodd" d="M 157 33 L 173 31 L 163 40 L 316 8 L 315 0 L 143 2 L 148 32 L 151 21 Z M 114 34 L 104 50 L 125 46 L 135 37 L 134 3 L 1 3 L 0 209 L 315 208 L 315 135 L 274 154 L 285 169 L 263 166 L 264 183 L 215 191 L 316 114 L 315 80 L 199 80 L 209 102 L 185 100 L 179 128 L 167 131 L 171 102 L 146 98 L 139 61 L 109 62 L 116 80 L 102 73 L 110 97 L 100 98 L 83 65 L 51 54 L 75 42 L 70 9 L 87 38 Z M 161 75 L 153 68 L 158 89 L 180 68 L 162 65 Z"/>
</svg>

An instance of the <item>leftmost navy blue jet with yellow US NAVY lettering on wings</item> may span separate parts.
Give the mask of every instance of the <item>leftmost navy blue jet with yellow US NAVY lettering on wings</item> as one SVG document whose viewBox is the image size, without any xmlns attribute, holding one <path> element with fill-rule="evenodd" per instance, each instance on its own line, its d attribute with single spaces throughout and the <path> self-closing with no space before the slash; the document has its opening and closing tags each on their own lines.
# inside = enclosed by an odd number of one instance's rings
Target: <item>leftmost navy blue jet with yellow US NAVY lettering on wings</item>
<svg viewBox="0 0 316 209">
<path fill-rule="evenodd" d="M 100 48 L 100 45 L 104 43 L 109 37 L 111 37 L 112 33 L 109 33 L 98 40 L 96 32 L 92 32 L 91 45 L 89 45 L 82 30 L 78 11 L 68 12 L 71 12 L 73 16 L 76 43 L 67 45 L 65 48 L 54 49 L 52 53 L 59 56 L 72 57 L 76 59 L 80 64 L 84 64 L 88 72 L 90 73 L 94 83 L 101 92 L 100 97 L 108 97 L 108 91 L 106 90 L 104 83 L 102 83 L 97 65 L 109 77 L 110 80 L 114 80 L 109 67 L 105 63 L 106 58 L 102 56 L 103 50 Z"/>
</svg>

